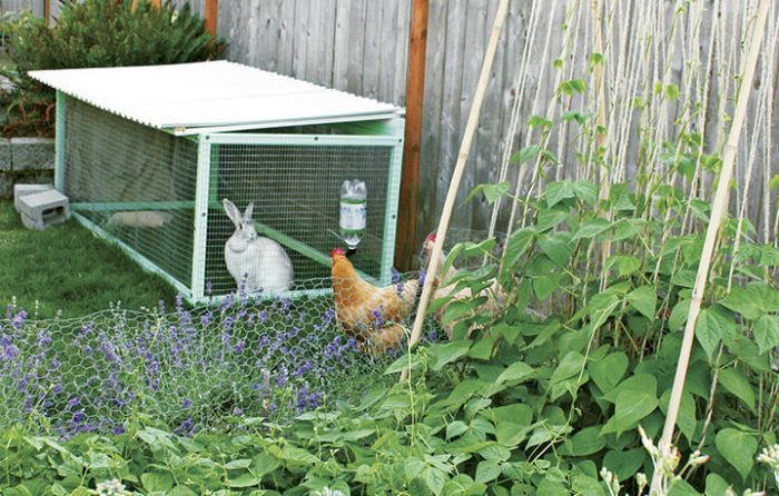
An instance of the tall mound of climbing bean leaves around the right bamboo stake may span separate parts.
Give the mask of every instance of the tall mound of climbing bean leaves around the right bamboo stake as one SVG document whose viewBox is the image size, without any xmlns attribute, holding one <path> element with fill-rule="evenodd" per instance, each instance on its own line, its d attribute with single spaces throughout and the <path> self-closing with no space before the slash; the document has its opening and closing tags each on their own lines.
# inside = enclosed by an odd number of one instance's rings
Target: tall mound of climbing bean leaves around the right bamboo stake
<svg viewBox="0 0 779 496">
<path fill-rule="evenodd" d="M 662 159 L 691 178 L 700 141 L 687 136 L 683 142 L 689 149 L 671 155 L 669 147 Z M 472 339 L 463 341 L 471 345 L 457 360 L 461 381 L 433 406 L 448 418 L 450 443 L 467 439 L 462 443 L 480 449 L 494 443 L 500 457 L 474 449 L 475 459 L 457 467 L 472 477 L 482 474 L 494 494 L 576 492 L 594 467 L 627 480 L 629 494 L 638 489 L 633 475 L 651 477 L 652 463 L 635 429 L 641 425 L 650 437 L 660 436 L 710 209 L 673 186 L 631 189 L 612 185 L 599 200 L 590 181 L 546 182 L 542 196 L 523 199 L 527 221 L 509 238 L 505 258 L 461 269 L 453 278 L 455 290 L 467 288 L 481 301 L 447 308 L 465 308 L 451 320 L 470 329 Z M 674 236 L 688 212 L 702 227 Z M 778 428 L 779 251 L 743 236 L 751 228 L 745 225 L 736 252 L 737 222 L 728 218 L 721 229 L 677 420 L 682 459 L 696 449 L 710 459 L 682 470 L 676 494 L 703 493 L 719 480 L 737 494 L 772 487 L 770 470 L 756 455 L 775 443 Z M 601 267 L 592 254 L 607 241 L 613 255 Z M 490 250 L 491 245 L 481 251 L 458 246 L 446 267 L 472 266 L 469 256 L 480 259 Z M 494 301 L 497 311 L 484 305 L 495 297 L 480 292 L 491 278 L 505 291 Z M 436 356 L 438 346 L 425 356 Z M 527 414 L 496 415 L 519 406 Z M 507 478 L 486 479 L 491 460 Z M 507 468 L 514 464 L 521 468 Z M 591 494 L 604 490 L 595 484 Z"/>
</svg>

